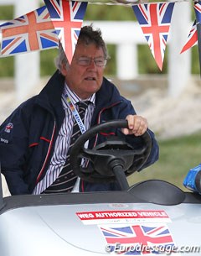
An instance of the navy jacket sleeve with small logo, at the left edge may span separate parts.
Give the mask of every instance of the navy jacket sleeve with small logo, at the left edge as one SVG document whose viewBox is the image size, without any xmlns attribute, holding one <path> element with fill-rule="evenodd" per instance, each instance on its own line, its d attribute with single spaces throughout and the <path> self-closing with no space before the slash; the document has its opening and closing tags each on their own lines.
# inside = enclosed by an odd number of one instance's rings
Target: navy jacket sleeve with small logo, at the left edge
<svg viewBox="0 0 201 256">
<path fill-rule="evenodd" d="M 24 182 L 28 152 L 28 117 L 18 107 L 0 126 L 0 162 L 12 195 L 29 194 Z"/>
</svg>

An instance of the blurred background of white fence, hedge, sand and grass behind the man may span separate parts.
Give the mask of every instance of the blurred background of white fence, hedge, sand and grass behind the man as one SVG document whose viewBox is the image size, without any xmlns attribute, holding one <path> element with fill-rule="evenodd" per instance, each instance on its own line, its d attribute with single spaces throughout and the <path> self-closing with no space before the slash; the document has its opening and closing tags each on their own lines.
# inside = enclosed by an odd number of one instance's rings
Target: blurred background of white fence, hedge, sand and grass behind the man
<svg viewBox="0 0 201 256">
<path fill-rule="evenodd" d="M 33 11 L 39 0 L 1 0 L 0 24 Z M 185 190 L 183 179 L 201 159 L 201 82 L 198 45 L 180 55 L 195 19 L 193 2 L 176 3 L 162 71 L 147 45 L 130 5 L 89 3 L 84 24 L 100 28 L 111 60 L 105 75 L 147 118 L 160 158 L 129 177 L 162 179 Z M 1 42 L 1 38 L 0 38 Z M 54 73 L 58 50 L 0 58 L 0 123 L 28 97 L 39 93 Z"/>
</svg>

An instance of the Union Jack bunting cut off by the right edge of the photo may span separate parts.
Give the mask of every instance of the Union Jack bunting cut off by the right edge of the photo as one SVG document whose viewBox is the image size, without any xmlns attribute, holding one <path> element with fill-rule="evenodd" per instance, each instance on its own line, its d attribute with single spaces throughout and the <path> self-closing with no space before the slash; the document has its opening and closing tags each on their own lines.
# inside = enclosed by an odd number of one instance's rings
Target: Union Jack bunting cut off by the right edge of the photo
<svg viewBox="0 0 201 256">
<path fill-rule="evenodd" d="M 180 54 L 190 49 L 194 45 L 198 44 L 197 23 L 201 24 L 201 1 L 199 1 L 198 3 L 194 3 L 194 11 L 196 15 L 196 20 L 193 22 L 193 26 L 188 34 L 187 42 L 186 44 L 184 44 Z"/>
</svg>

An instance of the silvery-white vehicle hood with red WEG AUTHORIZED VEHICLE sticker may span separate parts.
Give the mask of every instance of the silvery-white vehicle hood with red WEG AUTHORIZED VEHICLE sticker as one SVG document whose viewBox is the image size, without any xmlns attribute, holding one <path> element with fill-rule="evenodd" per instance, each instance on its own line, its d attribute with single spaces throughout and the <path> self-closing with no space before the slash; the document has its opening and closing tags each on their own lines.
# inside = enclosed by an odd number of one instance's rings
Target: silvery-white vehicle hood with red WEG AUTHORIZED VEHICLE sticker
<svg viewBox="0 0 201 256">
<path fill-rule="evenodd" d="M 126 248 L 132 246 L 132 250 L 137 244 L 147 248 L 154 244 L 172 244 L 180 250 L 174 255 L 198 255 L 189 250 L 200 244 L 201 207 L 185 203 L 177 206 L 152 203 L 25 206 L 4 212 L 0 216 L 0 227 L 3 256 L 122 253 L 118 251 L 118 243 Z M 188 248 L 184 248 L 186 246 Z M 156 252 L 149 251 L 147 255 L 156 255 Z"/>
</svg>

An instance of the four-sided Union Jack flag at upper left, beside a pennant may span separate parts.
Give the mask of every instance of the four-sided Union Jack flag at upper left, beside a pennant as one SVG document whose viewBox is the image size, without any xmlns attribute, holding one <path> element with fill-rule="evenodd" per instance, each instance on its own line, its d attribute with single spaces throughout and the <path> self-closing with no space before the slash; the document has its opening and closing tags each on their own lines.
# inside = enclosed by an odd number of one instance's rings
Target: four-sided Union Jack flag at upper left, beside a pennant
<svg viewBox="0 0 201 256">
<path fill-rule="evenodd" d="M 59 39 L 44 6 L 0 25 L 1 55 L 16 55 L 58 47 Z"/>
</svg>

